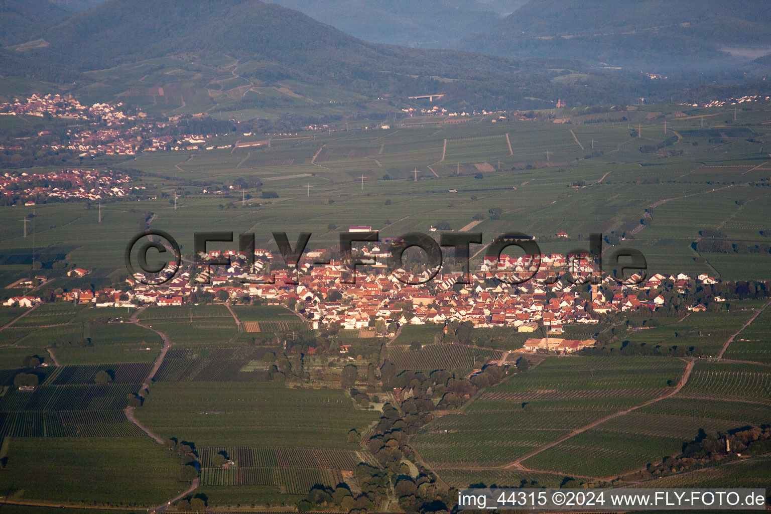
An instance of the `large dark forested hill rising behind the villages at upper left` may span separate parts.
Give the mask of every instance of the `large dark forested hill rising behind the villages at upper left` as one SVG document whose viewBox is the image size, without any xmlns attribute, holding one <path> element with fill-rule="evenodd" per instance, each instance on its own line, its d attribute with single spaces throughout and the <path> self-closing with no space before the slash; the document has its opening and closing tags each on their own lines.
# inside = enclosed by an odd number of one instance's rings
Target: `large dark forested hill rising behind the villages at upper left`
<svg viewBox="0 0 771 514">
<path fill-rule="evenodd" d="M 42 32 L 35 44 L 6 48 L 0 64 L 86 101 L 116 97 L 179 114 L 396 112 L 407 96 L 432 92 L 445 93 L 442 105 L 455 109 L 641 96 L 639 78 L 579 62 L 364 42 L 257 0 L 109 0 Z M 553 80 L 574 71 L 581 83 Z"/>
</svg>

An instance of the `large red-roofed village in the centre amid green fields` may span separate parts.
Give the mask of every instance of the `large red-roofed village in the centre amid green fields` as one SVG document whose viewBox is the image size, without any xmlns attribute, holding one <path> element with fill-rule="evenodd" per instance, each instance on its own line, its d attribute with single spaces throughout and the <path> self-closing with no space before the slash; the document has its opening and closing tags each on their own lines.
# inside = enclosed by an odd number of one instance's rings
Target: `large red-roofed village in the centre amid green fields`
<svg viewBox="0 0 771 514">
<path fill-rule="evenodd" d="M 381 260 L 389 257 L 382 244 L 369 244 L 362 250 L 367 257 Z M 476 328 L 505 327 L 524 334 L 541 334 L 546 338 L 528 339 L 522 351 L 558 351 L 572 353 L 595 344 L 594 339 L 564 339 L 565 329 L 574 324 L 598 324 L 605 316 L 632 314 L 641 309 L 649 312 L 664 308 L 668 302 L 663 291 L 687 294 L 692 287 L 718 284 L 706 274 L 689 277 L 654 274 L 639 284 L 619 284 L 604 277 L 598 284 L 574 285 L 558 278 L 574 269 L 561 254 L 540 256 L 540 269 L 533 280 L 510 286 L 496 277 L 522 274 L 531 269 L 530 256 L 501 255 L 496 262 L 483 260 L 469 274 L 469 284 L 460 284 L 459 273 L 437 274 L 426 284 L 427 274 L 393 272 L 382 264 L 359 267 L 355 284 L 346 284 L 348 268 L 331 260 L 328 265 L 310 264 L 325 256 L 325 250 L 305 254 L 299 267 L 284 267 L 281 256 L 268 250 L 254 251 L 254 270 L 247 269 L 245 256 L 234 250 L 211 250 L 205 257 L 230 257 L 229 266 L 189 264 L 181 273 L 172 266 L 161 272 L 170 280 L 162 285 L 146 285 L 143 274 L 129 277 L 123 287 L 106 287 L 98 291 L 73 288 L 56 294 L 55 301 L 69 301 L 94 307 L 182 306 L 200 303 L 281 304 L 308 320 L 314 329 L 335 326 L 336 329 L 362 330 L 381 327 L 381 336 L 393 336 L 406 324 L 449 324 L 470 322 Z M 583 261 L 583 260 L 582 260 Z M 176 263 L 174 263 L 176 264 Z M 203 268 L 203 269 L 201 269 Z M 581 263 L 583 277 L 599 277 L 587 262 Z M 89 270 L 75 268 L 70 276 L 82 277 Z M 552 280 L 549 280 L 552 277 Z M 639 277 L 638 277 L 639 278 Z M 45 280 L 45 277 L 38 277 Z M 720 302 L 719 296 L 712 301 Z M 39 297 L 12 297 L 4 305 L 32 307 L 42 302 Z M 688 305 L 688 311 L 705 311 L 705 304 Z M 551 337 L 549 336 L 551 334 Z M 534 334 L 535 335 L 535 334 Z"/>
</svg>

